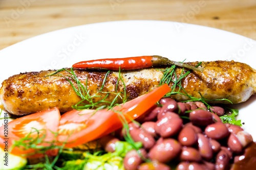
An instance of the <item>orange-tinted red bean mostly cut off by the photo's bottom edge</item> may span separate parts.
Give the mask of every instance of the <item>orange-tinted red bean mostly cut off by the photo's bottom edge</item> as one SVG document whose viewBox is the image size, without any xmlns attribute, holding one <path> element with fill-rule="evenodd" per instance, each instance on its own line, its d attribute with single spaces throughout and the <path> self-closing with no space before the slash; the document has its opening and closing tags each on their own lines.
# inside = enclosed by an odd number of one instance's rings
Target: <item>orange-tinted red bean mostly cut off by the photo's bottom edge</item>
<svg viewBox="0 0 256 170">
<path fill-rule="evenodd" d="M 138 170 L 172 170 L 168 165 L 153 161 L 153 162 L 145 162 L 139 165 Z"/>
</svg>

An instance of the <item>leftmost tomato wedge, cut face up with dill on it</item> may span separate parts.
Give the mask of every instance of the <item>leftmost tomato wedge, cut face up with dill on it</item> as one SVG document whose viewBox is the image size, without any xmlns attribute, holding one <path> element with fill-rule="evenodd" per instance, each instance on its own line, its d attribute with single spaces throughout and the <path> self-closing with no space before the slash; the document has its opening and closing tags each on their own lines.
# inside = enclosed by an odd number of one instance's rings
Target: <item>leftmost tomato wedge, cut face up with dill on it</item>
<svg viewBox="0 0 256 170">
<path fill-rule="evenodd" d="M 48 146 L 56 140 L 59 120 L 60 113 L 57 108 L 16 118 L 8 123 L 8 136 L 4 136 L 4 126 L 0 127 L 0 137 L 3 140 L 8 140 L 9 150 L 12 148 L 14 141 L 24 139 L 26 136 L 31 140 L 39 137 L 42 141 L 37 143 L 37 145 Z M 1 142 L 0 147 L 4 148 L 4 144 Z M 22 146 L 14 147 L 10 151 L 10 153 L 15 155 L 32 154 L 34 152 L 34 149 L 25 149 Z"/>
</svg>

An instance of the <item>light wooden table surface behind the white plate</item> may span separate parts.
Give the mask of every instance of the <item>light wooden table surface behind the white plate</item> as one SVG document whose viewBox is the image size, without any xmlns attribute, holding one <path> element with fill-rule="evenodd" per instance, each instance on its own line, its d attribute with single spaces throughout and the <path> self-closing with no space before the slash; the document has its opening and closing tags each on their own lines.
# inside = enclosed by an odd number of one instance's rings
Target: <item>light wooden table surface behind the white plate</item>
<svg viewBox="0 0 256 170">
<path fill-rule="evenodd" d="M 62 28 L 138 19 L 193 23 L 256 40 L 255 0 L 1 0 L 0 50 Z"/>
</svg>

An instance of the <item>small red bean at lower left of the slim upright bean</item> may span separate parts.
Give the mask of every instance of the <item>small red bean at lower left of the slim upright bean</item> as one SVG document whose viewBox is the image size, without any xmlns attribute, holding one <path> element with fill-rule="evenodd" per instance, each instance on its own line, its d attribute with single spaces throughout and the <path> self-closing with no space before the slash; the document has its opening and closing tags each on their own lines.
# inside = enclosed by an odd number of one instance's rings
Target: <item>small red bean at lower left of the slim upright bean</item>
<svg viewBox="0 0 256 170">
<path fill-rule="evenodd" d="M 197 149 L 192 147 L 183 147 L 180 154 L 180 159 L 182 161 L 200 162 L 202 157 Z"/>
</svg>

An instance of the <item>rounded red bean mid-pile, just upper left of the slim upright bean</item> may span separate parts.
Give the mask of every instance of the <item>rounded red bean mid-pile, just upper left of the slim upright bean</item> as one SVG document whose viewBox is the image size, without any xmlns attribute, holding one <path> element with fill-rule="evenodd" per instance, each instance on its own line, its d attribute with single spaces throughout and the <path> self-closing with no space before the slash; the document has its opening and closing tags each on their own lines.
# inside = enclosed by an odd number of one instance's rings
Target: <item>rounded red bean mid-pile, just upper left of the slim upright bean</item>
<svg viewBox="0 0 256 170">
<path fill-rule="evenodd" d="M 198 136 L 195 130 L 189 126 L 185 126 L 178 135 L 179 142 L 187 147 L 194 145 L 197 140 Z"/>
</svg>

